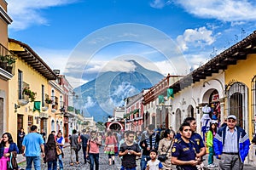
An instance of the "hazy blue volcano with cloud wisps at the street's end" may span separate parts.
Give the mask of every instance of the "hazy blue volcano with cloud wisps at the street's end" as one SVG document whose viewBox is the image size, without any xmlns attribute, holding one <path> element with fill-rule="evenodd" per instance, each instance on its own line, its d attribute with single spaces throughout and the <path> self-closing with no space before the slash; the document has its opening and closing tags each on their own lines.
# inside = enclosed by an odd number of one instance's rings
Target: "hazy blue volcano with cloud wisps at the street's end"
<svg viewBox="0 0 256 170">
<path fill-rule="evenodd" d="M 81 96 L 76 107 L 81 107 L 85 116 L 94 116 L 96 122 L 105 122 L 113 115 L 113 107 L 124 105 L 126 97 L 138 94 L 143 88 L 151 88 L 164 77 L 157 71 L 150 71 L 139 65 L 135 60 L 129 60 L 136 65 L 134 71 L 108 71 L 96 79 L 84 83 L 74 91 Z"/>
</svg>

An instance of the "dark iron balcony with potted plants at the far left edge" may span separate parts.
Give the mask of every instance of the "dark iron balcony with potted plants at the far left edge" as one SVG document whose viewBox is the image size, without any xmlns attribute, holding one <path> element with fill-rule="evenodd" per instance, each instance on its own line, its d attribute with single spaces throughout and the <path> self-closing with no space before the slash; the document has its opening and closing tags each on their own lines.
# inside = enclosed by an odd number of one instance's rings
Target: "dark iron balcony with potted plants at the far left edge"
<svg viewBox="0 0 256 170">
<path fill-rule="evenodd" d="M 0 68 L 14 75 L 16 59 L 15 54 L 3 47 L 3 45 L 0 43 Z"/>
</svg>

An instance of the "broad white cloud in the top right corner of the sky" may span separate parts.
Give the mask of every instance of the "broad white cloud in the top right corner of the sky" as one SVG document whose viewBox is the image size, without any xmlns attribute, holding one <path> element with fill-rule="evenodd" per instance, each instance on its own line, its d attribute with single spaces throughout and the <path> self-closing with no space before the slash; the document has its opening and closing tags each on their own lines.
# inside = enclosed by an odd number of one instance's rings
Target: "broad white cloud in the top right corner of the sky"
<svg viewBox="0 0 256 170">
<path fill-rule="evenodd" d="M 256 4 L 251 0 L 193 0 L 172 1 L 181 5 L 189 14 L 222 21 L 256 20 Z"/>
</svg>

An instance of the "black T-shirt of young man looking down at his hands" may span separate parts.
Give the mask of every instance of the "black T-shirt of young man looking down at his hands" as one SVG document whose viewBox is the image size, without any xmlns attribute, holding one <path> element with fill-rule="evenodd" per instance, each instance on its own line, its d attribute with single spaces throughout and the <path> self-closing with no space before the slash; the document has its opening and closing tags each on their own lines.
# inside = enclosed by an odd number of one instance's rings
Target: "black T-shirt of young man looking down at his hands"
<svg viewBox="0 0 256 170">
<path fill-rule="evenodd" d="M 134 143 L 131 146 L 128 146 L 126 143 L 121 144 L 120 146 L 120 150 L 121 152 L 124 152 L 125 150 L 133 150 L 136 152 L 140 152 L 140 147 L 138 144 Z M 136 165 L 136 155 L 132 154 L 126 154 L 125 156 L 123 156 L 122 158 L 122 166 L 123 167 L 137 167 Z"/>
</svg>

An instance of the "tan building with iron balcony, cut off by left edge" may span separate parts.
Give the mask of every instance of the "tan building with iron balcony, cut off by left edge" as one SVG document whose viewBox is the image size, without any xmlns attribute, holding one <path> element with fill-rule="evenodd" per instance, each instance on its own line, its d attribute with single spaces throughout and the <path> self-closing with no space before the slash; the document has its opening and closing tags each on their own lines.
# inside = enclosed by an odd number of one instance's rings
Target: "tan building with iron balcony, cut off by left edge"
<svg viewBox="0 0 256 170">
<path fill-rule="evenodd" d="M 8 50 L 8 26 L 12 20 L 7 14 L 7 3 L 0 0 L 0 135 L 7 131 L 9 111 L 9 80 L 13 77 L 13 71 L 9 68 L 15 63 L 15 55 Z"/>
</svg>

